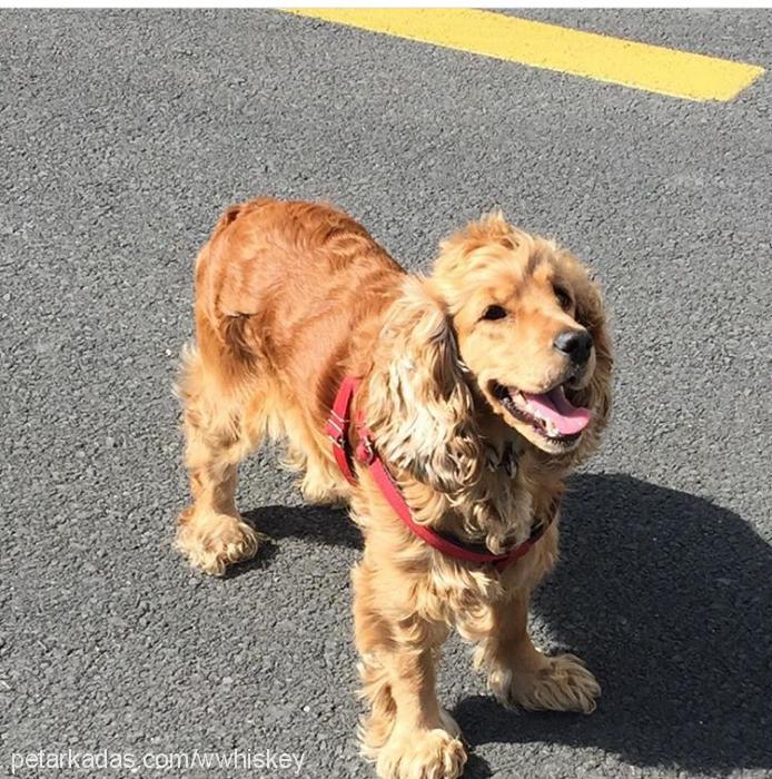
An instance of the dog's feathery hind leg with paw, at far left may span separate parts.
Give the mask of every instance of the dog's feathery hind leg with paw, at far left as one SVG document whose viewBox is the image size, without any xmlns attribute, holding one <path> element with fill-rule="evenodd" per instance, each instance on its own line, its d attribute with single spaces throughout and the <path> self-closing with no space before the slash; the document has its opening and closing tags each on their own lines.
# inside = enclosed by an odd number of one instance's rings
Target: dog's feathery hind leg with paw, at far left
<svg viewBox="0 0 772 779">
<path fill-rule="evenodd" d="M 194 503 L 179 515 L 176 546 L 194 568 L 222 575 L 228 564 L 254 556 L 259 541 L 235 504 L 238 463 L 257 443 L 256 398 L 215 387 L 195 347 L 182 362 L 177 389 Z"/>
</svg>

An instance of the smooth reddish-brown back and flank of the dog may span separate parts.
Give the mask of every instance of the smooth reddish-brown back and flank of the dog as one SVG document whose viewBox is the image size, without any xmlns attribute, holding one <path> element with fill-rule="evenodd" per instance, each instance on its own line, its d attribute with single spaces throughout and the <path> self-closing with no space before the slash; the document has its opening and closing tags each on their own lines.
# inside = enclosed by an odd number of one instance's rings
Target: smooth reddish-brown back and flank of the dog
<svg viewBox="0 0 772 779">
<path fill-rule="evenodd" d="M 353 335 L 390 303 L 403 273 L 331 206 L 269 198 L 232 206 L 196 264 L 201 357 L 229 383 L 277 373 L 293 387 L 321 391 L 325 404 L 324 388 L 352 367 L 344 364 Z"/>
</svg>

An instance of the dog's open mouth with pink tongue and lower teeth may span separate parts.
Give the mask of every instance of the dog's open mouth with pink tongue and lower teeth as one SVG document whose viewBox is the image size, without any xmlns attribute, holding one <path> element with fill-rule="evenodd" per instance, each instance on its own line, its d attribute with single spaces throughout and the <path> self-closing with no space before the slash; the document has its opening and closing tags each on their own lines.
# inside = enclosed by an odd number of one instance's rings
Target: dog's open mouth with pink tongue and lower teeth
<svg viewBox="0 0 772 779">
<path fill-rule="evenodd" d="M 553 446 L 573 446 L 592 420 L 588 408 L 573 405 L 565 396 L 564 385 L 535 394 L 494 383 L 492 393 L 512 416 Z"/>
</svg>

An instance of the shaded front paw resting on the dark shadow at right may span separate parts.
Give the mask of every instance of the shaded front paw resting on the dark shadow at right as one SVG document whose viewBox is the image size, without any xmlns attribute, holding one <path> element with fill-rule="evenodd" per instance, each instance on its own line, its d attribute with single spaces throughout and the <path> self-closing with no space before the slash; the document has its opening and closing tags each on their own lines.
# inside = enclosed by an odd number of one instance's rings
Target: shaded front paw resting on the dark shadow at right
<svg viewBox="0 0 772 779">
<path fill-rule="evenodd" d="M 488 684 L 496 698 L 505 706 L 535 711 L 588 714 L 595 710 L 601 686 L 584 661 L 574 654 L 541 655 L 541 659 L 535 669 L 492 672 Z"/>
</svg>

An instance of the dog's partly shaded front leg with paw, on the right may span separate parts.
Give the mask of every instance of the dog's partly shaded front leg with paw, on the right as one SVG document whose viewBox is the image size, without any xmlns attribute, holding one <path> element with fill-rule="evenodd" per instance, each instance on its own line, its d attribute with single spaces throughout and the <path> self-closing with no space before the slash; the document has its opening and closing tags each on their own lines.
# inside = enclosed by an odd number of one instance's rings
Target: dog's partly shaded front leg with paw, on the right
<svg viewBox="0 0 772 779">
<path fill-rule="evenodd" d="M 477 643 L 475 665 L 487 672 L 488 687 L 505 706 L 590 713 L 601 687 L 573 654 L 547 657 L 528 635 L 531 593 L 517 590 L 492 603 L 476 620 L 459 624 Z"/>
</svg>

